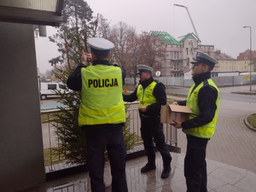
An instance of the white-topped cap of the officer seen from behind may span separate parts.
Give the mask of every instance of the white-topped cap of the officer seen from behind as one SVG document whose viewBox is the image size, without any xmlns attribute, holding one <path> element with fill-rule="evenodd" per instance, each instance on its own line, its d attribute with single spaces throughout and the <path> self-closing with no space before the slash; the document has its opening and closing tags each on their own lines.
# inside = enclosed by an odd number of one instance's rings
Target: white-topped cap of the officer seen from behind
<svg viewBox="0 0 256 192">
<path fill-rule="evenodd" d="M 108 54 L 114 47 L 114 44 L 106 38 L 88 38 L 87 43 L 91 52 L 96 54 Z"/>
</svg>

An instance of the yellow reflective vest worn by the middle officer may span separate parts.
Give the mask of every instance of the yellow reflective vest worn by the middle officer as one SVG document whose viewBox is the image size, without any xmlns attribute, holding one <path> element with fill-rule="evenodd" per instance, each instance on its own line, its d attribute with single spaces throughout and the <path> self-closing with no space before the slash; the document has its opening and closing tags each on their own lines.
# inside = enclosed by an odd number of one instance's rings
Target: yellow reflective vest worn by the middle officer
<svg viewBox="0 0 256 192">
<path fill-rule="evenodd" d="M 153 91 L 156 84 L 157 82 L 153 81 L 151 84 L 148 85 L 148 87 L 146 87 L 145 90 L 143 89 L 142 84 L 139 84 L 137 86 L 137 98 L 139 101 L 139 107 L 148 106 L 156 102 L 156 99 L 153 96 Z"/>
</svg>

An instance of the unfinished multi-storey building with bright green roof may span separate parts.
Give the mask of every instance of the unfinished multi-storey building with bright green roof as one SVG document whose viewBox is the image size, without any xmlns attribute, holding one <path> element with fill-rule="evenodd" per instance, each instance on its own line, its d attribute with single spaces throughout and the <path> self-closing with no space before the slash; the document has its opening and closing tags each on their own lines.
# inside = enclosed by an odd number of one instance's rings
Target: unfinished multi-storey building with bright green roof
<svg viewBox="0 0 256 192">
<path fill-rule="evenodd" d="M 201 40 L 193 32 L 180 37 L 179 40 L 168 32 L 151 31 L 150 33 L 166 46 L 166 59 L 161 61 L 161 76 L 183 77 L 184 73 L 189 73 L 190 61 L 198 50 L 214 55 L 214 45 L 202 45 Z"/>
</svg>

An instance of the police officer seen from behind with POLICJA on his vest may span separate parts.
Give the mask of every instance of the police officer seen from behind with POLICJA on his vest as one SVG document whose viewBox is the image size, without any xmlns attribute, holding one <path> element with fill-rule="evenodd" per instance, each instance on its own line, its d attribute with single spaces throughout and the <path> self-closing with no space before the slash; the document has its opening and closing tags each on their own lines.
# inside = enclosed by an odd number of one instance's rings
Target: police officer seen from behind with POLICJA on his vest
<svg viewBox="0 0 256 192">
<path fill-rule="evenodd" d="M 67 79 L 71 90 L 81 91 L 79 125 L 87 142 L 86 164 L 92 192 L 105 191 L 104 151 L 107 148 L 112 173 L 112 191 L 126 192 L 125 104 L 122 97 L 125 72 L 108 62 L 113 44 L 104 38 L 89 38 L 89 53 Z M 87 65 L 92 61 L 92 65 Z"/>
</svg>

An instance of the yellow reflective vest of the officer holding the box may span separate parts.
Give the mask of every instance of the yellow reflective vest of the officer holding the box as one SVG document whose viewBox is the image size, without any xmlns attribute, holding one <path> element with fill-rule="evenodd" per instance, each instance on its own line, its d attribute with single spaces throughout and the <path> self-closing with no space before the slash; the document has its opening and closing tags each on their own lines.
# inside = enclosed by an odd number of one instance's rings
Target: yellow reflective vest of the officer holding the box
<svg viewBox="0 0 256 192">
<path fill-rule="evenodd" d="M 193 92 L 191 91 L 194 89 L 195 84 L 190 88 L 186 106 L 188 106 L 192 110 L 192 113 L 189 114 L 189 119 L 194 119 L 195 116 L 197 116 L 200 113 L 200 109 L 198 108 L 198 93 L 199 93 L 199 90 L 205 85 L 212 86 L 218 91 L 218 98 L 216 100 L 217 109 L 215 111 L 215 115 L 212 121 L 207 125 L 202 125 L 200 127 L 195 127 L 191 129 L 183 129 L 183 132 L 195 137 L 211 138 L 215 132 L 215 126 L 218 119 L 218 103 L 219 103 L 219 90 L 216 84 L 214 84 L 214 82 L 212 81 L 212 79 L 207 79 L 206 82 L 201 82 L 201 84 L 199 84 Z"/>
</svg>

